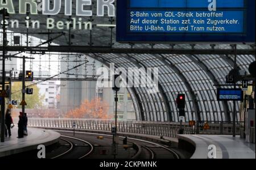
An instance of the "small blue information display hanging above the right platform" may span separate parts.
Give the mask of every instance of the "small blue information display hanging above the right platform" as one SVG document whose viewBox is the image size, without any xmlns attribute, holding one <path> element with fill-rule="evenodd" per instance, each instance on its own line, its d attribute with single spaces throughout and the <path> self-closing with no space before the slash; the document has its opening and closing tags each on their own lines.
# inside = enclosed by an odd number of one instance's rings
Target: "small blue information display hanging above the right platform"
<svg viewBox="0 0 256 170">
<path fill-rule="evenodd" d="M 218 88 L 217 90 L 218 101 L 242 101 L 243 91 L 241 88 Z"/>
</svg>

